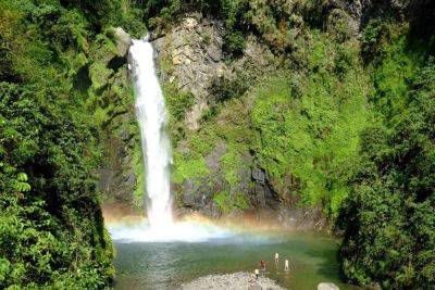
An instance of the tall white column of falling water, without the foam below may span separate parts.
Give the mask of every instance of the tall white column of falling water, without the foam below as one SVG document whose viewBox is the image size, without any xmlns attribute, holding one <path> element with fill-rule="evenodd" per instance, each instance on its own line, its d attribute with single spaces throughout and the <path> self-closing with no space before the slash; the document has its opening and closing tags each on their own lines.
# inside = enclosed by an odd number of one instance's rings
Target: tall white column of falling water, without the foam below
<svg viewBox="0 0 435 290">
<path fill-rule="evenodd" d="M 147 40 L 133 40 L 129 48 L 133 70 L 136 115 L 146 172 L 148 220 L 151 228 L 173 224 L 170 189 L 171 144 L 165 133 L 166 109 L 156 75 L 153 49 Z"/>
</svg>

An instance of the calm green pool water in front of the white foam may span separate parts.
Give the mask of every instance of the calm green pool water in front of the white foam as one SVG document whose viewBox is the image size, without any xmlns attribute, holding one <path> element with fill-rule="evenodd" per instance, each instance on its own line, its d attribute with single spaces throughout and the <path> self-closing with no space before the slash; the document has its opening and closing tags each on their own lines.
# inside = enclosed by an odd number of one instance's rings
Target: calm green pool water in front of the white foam
<svg viewBox="0 0 435 290">
<path fill-rule="evenodd" d="M 334 282 L 351 289 L 338 278 L 335 239 L 313 234 L 281 237 L 238 237 L 212 242 L 117 243 L 115 289 L 176 289 L 209 274 L 253 272 L 266 261 L 266 276 L 293 290 L 316 289 L 320 282 Z M 274 253 L 279 253 L 275 267 Z M 290 270 L 284 272 L 288 259 Z"/>
</svg>

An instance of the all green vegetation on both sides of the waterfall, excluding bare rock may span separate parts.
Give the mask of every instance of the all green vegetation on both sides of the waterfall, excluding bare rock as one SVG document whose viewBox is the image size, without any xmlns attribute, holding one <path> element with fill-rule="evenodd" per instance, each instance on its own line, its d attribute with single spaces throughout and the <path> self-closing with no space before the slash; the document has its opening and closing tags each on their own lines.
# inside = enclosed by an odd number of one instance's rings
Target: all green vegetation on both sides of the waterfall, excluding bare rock
<svg viewBox="0 0 435 290">
<path fill-rule="evenodd" d="M 223 23 L 227 63 L 253 37 L 270 67 L 216 79 L 197 131 L 179 125 L 191 96 L 163 84 L 173 146 L 188 148 L 174 182 L 215 182 L 204 155 L 223 141 L 222 212 L 249 206 L 253 159 L 281 199 L 335 224 L 345 279 L 433 288 L 435 7 L 363 2 L 0 0 L 0 288 L 113 279 L 97 169 L 133 97 L 111 28 L 159 37 L 194 12 Z"/>
</svg>

